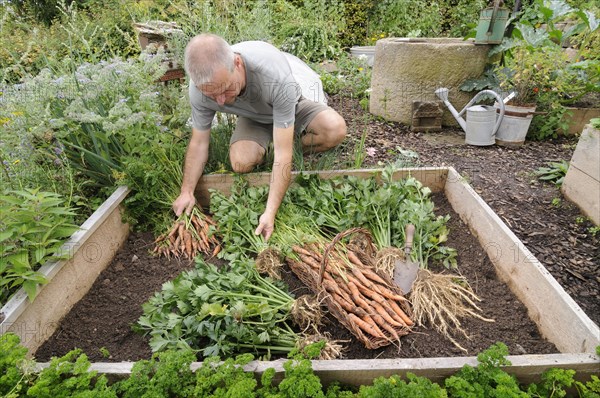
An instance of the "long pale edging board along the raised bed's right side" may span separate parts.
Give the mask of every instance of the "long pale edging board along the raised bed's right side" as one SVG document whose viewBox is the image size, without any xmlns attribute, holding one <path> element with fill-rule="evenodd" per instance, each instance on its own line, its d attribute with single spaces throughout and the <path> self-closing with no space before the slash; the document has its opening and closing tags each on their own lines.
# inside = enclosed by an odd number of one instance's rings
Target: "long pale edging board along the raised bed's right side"
<svg viewBox="0 0 600 398">
<path fill-rule="evenodd" d="M 453 168 L 446 196 L 543 336 L 563 353 L 594 352 L 600 345 L 598 325 Z"/>
</svg>

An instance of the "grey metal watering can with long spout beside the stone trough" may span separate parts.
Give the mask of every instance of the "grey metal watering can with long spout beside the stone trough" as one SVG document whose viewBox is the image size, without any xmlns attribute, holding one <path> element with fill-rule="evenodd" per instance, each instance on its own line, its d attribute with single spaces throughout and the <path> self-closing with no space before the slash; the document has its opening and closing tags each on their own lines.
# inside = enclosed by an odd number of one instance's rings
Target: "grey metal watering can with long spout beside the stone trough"
<svg viewBox="0 0 600 398">
<path fill-rule="evenodd" d="M 460 127 L 465 131 L 465 142 L 470 145 L 486 146 L 496 143 L 496 132 L 504 118 L 504 101 L 495 91 L 483 90 L 477 93 L 475 97 L 462 111 L 457 112 L 448 101 L 448 89 L 445 87 L 435 90 L 435 95 L 444 102 L 452 116 L 456 119 Z M 500 114 L 496 113 L 496 108 L 488 105 L 473 105 L 480 97 L 484 95 L 493 95 L 500 107 Z M 462 118 L 466 112 L 467 120 Z"/>
</svg>

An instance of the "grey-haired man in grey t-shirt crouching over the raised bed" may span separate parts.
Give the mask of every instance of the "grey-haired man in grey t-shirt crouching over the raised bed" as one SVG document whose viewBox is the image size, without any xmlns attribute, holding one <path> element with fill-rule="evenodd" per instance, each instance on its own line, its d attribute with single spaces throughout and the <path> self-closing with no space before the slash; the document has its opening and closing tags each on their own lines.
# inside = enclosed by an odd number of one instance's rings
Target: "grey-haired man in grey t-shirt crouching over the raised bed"
<svg viewBox="0 0 600 398">
<path fill-rule="evenodd" d="M 173 210 L 179 216 L 196 203 L 194 189 L 208 161 L 215 113 L 235 114 L 237 125 L 229 147 L 233 171 L 250 172 L 273 143 L 269 196 L 255 231 L 269 239 L 291 180 L 294 134 L 301 134 L 304 152 L 322 152 L 343 141 L 346 123 L 325 105 L 319 76 L 298 58 L 268 43 L 230 46 L 219 36 L 201 34 L 186 47 L 185 70 L 190 77 L 192 137 Z"/>
</svg>

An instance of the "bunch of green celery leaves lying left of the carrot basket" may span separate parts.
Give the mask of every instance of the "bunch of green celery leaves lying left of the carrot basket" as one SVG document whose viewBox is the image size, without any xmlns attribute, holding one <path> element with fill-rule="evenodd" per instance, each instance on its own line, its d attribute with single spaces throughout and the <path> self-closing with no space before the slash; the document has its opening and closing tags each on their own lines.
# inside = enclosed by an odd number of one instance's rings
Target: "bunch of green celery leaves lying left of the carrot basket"
<svg viewBox="0 0 600 398">
<path fill-rule="evenodd" d="M 217 268 L 200 258 L 196 268 L 163 285 L 142 307 L 136 330 L 150 335 L 153 351 L 193 349 L 201 355 L 290 352 L 294 299 L 261 277 L 253 263 Z"/>
</svg>

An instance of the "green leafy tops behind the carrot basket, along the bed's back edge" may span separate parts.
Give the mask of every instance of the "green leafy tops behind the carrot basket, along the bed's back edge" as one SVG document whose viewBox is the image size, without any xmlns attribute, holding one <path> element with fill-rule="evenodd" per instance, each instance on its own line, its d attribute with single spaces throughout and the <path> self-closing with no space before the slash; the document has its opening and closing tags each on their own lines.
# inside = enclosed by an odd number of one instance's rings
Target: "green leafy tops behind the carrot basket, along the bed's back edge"
<svg viewBox="0 0 600 398">
<path fill-rule="evenodd" d="M 384 170 L 382 184 L 375 177 L 298 176 L 279 208 L 277 229 L 269 243 L 288 253 L 290 243 L 310 241 L 319 233 L 332 238 L 364 226 L 373 233 L 379 248 L 404 247 L 404 228 L 414 224 L 417 230 L 413 260 L 422 267 L 433 262 L 447 268 L 456 266 L 456 251 L 444 246 L 449 216 L 435 215 L 429 188 L 413 177 L 395 181 L 393 170 Z M 254 258 L 265 248 L 265 243 L 252 234 L 251 223 L 264 211 L 267 188 L 249 186 L 240 178 L 231 195 L 211 193 L 211 212 L 219 223 L 221 238 L 228 242 L 219 253 L 220 258 Z M 296 237 L 298 242 L 290 242 L 290 237 Z"/>
</svg>

